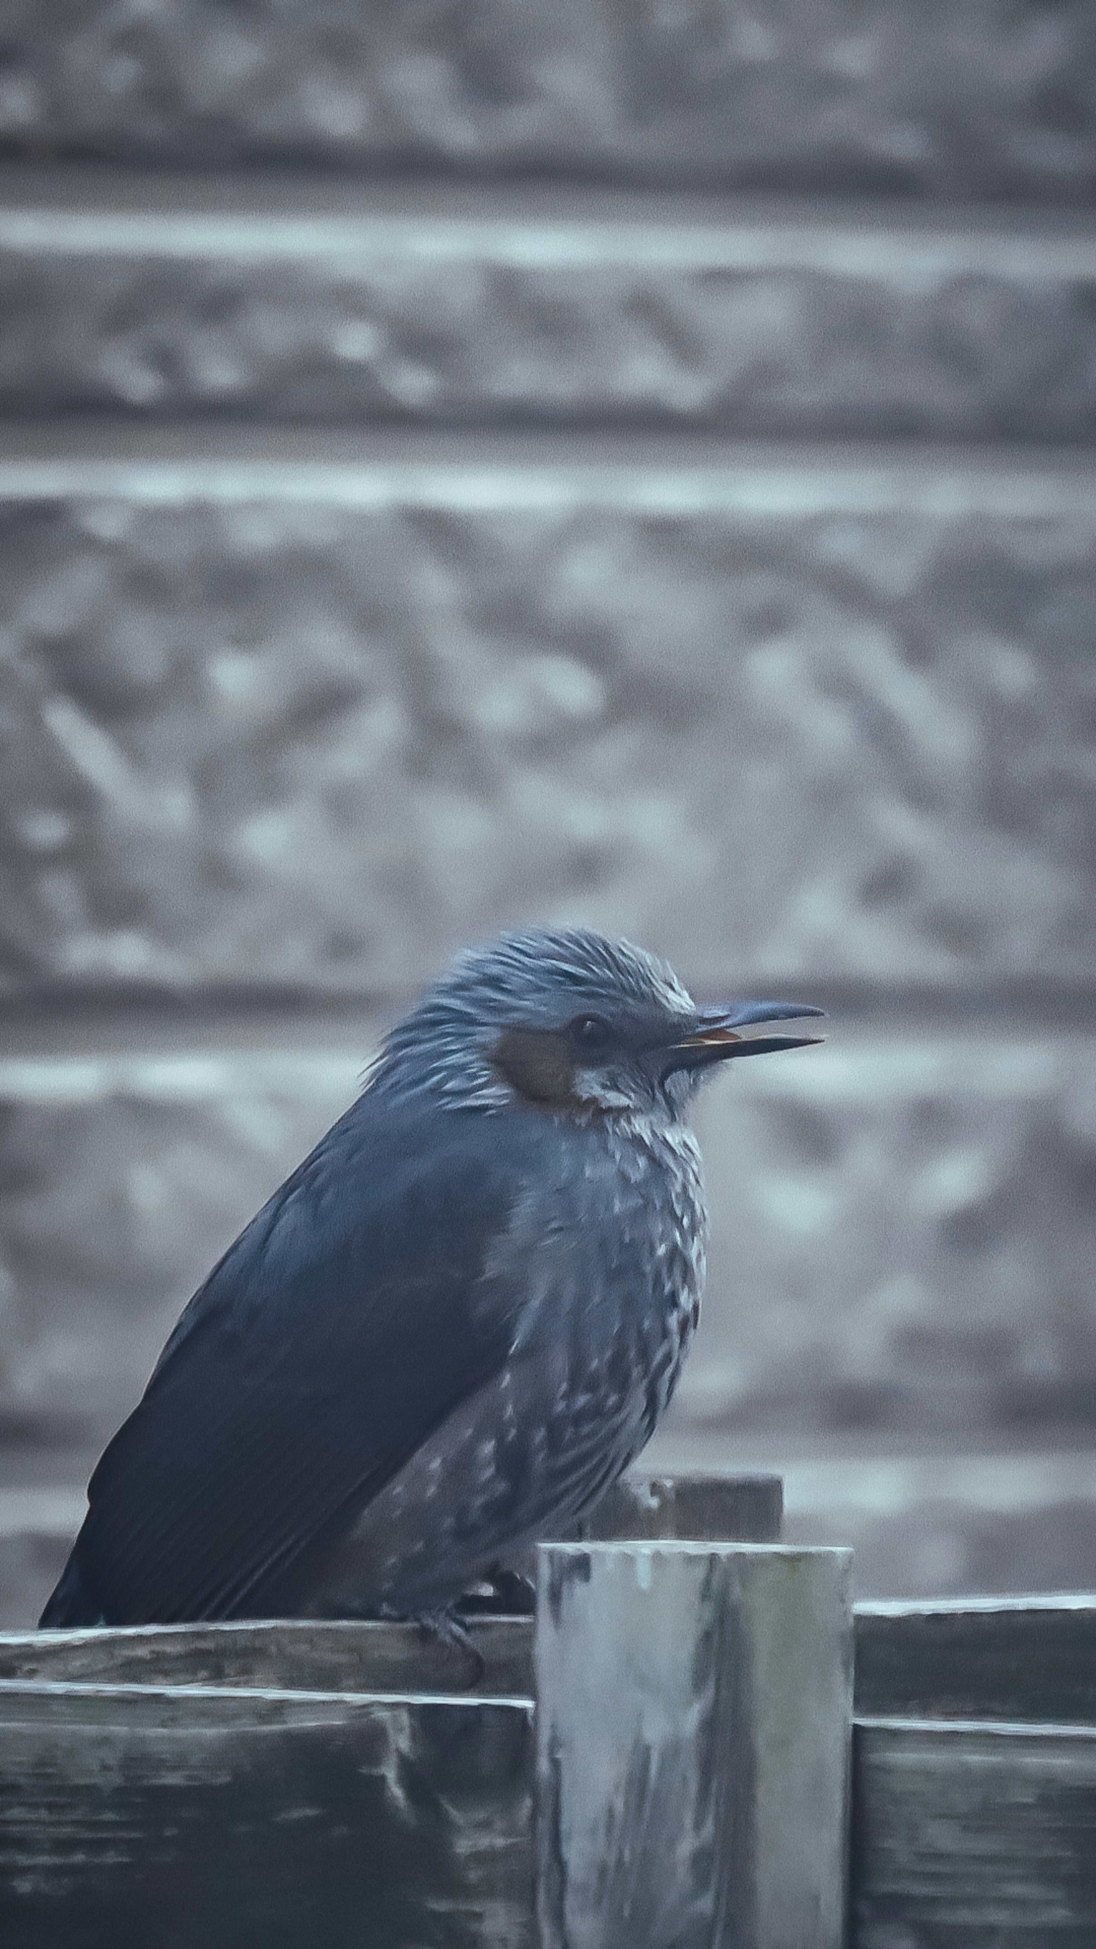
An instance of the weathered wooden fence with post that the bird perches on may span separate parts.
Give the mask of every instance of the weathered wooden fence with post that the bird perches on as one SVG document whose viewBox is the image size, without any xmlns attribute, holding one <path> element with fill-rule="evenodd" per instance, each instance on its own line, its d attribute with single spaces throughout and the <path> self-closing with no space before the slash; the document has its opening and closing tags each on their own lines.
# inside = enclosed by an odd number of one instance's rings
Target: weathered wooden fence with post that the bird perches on
<svg viewBox="0 0 1096 1949">
<path fill-rule="evenodd" d="M 1082 1949 L 1096 1598 L 848 1604 L 638 1481 L 536 1618 L 0 1637 L 4 1949 Z"/>
</svg>

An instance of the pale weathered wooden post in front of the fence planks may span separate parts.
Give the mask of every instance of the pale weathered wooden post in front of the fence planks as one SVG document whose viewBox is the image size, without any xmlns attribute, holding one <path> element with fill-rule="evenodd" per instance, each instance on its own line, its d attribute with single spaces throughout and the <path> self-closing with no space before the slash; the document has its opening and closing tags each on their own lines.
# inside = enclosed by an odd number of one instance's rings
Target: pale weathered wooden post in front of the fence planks
<svg viewBox="0 0 1096 1949">
<path fill-rule="evenodd" d="M 841 1949 L 850 1551 L 546 1544 L 542 1949 Z"/>
</svg>

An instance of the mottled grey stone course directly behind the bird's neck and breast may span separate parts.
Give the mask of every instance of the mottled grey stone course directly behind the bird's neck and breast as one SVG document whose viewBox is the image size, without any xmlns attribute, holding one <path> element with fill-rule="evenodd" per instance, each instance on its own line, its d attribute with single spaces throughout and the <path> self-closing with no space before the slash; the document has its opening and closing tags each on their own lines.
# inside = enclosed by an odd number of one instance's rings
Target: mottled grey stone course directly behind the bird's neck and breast
<svg viewBox="0 0 1096 1949">
<path fill-rule="evenodd" d="M 0 1070 L 8 1427 L 103 1434 L 367 1049 Z M 679 1427 L 993 1446 L 1096 1419 L 1096 1056 L 850 1043 L 704 1099 L 710 1294 Z M 710 1458 L 708 1458 L 710 1460 Z"/>
</svg>

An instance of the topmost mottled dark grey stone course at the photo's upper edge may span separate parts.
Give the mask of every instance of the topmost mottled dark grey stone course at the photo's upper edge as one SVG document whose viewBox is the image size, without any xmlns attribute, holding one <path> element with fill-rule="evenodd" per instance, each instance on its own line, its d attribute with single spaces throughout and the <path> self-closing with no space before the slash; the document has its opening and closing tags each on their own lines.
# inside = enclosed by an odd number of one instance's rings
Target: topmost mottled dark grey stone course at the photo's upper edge
<svg viewBox="0 0 1096 1949">
<path fill-rule="evenodd" d="M 1088 0 L 12 0 L 16 150 L 1086 195 Z"/>
</svg>

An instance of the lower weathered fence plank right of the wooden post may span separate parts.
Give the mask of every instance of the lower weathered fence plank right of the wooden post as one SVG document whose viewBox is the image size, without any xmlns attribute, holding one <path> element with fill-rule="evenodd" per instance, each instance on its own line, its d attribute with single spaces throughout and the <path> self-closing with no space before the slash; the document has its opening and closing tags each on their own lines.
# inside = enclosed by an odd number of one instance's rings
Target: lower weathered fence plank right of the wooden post
<svg viewBox="0 0 1096 1949">
<path fill-rule="evenodd" d="M 856 1723 L 854 1949 L 1092 1949 L 1096 1727 Z"/>
</svg>

